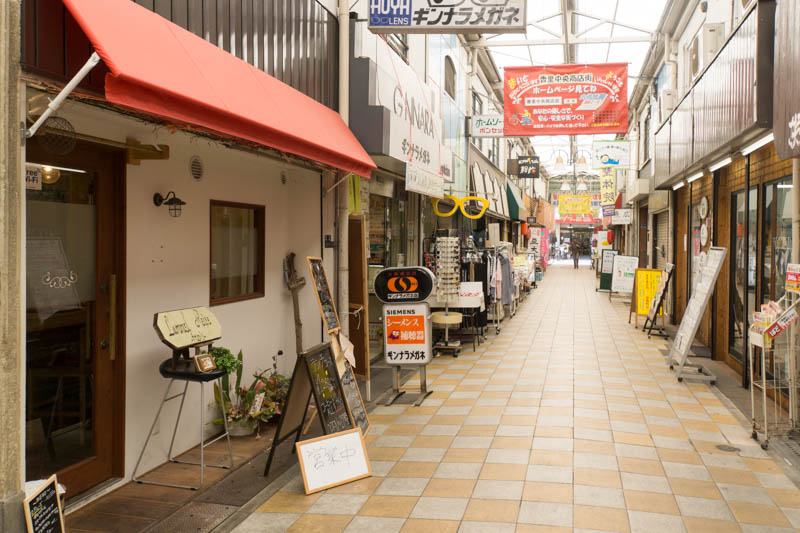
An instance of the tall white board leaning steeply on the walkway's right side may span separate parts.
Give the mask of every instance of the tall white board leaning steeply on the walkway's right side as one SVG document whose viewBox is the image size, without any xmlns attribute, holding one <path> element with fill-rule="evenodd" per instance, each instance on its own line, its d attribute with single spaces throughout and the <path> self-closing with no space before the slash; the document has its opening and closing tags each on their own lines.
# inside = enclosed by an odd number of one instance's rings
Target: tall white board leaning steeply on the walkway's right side
<svg viewBox="0 0 800 533">
<path fill-rule="evenodd" d="M 699 270 L 697 283 L 694 291 L 692 291 L 689 304 L 686 306 L 681 325 L 678 327 L 678 333 L 675 335 L 675 340 L 669 352 L 668 361 L 670 364 L 680 366 L 679 377 L 682 374 L 683 365 L 686 364 L 686 359 L 689 357 L 689 348 L 692 346 L 697 328 L 700 327 L 700 319 L 708 306 L 711 293 L 714 292 L 714 285 L 717 283 L 719 272 L 722 270 L 722 262 L 727 252 L 727 248 L 712 246 L 708 251 L 705 265 Z"/>
</svg>

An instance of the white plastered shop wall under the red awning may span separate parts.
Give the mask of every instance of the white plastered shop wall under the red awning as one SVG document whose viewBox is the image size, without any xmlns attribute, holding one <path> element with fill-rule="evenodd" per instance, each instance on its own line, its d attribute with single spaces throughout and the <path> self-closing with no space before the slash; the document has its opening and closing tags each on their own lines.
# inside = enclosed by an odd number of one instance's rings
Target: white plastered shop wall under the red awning
<svg viewBox="0 0 800 533">
<path fill-rule="evenodd" d="M 320 173 L 76 102 L 69 102 L 59 115 L 70 120 L 80 133 L 120 142 L 134 137 L 145 144 L 170 147 L 169 160 L 142 161 L 126 169 L 125 474 L 129 477 L 167 384 L 158 373 L 158 365 L 171 352 L 153 331 L 153 314 L 209 305 L 211 199 L 266 207 L 266 295 L 210 308 L 222 325 L 223 337 L 218 344 L 234 353 L 243 350 L 243 381 L 248 385 L 254 371 L 272 365 L 272 356 L 278 350 L 284 352 L 279 371 L 291 376 L 294 320 L 290 293 L 283 282 L 282 260 L 289 251 L 295 252 L 295 266 L 308 278 L 305 257 L 320 255 Z M 193 155 L 204 162 L 200 181 L 189 173 Z M 282 172 L 285 185 L 281 183 Z M 332 178 L 326 176 L 325 180 L 331 182 Z M 170 217 L 165 207 L 153 205 L 154 193 L 165 195 L 170 190 L 187 203 L 179 218 Z M 325 198 L 323 234 L 334 235 L 332 200 L 333 194 Z M 332 252 L 326 251 L 325 258 L 335 290 Z M 304 345 L 308 348 L 322 339 L 317 301 L 310 285 L 301 290 L 300 306 Z M 210 385 L 205 399 L 206 419 L 210 420 L 217 416 Z M 148 447 L 140 472 L 164 462 L 178 403 L 173 401 L 162 411 L 158 434 Z M 175 444 L 179 453 L 199 442 L 198 403 L 199 387 L 190 384 Z M 218 431 L 206 425 L 207 435 Z"/>
</svg>

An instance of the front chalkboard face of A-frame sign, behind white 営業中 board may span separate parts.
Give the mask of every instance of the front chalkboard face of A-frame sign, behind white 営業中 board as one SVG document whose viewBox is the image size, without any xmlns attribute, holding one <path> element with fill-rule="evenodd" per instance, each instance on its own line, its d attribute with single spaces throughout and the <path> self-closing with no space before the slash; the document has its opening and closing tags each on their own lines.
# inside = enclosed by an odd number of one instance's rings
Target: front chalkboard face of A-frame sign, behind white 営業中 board
<svg viewBox="0 0 800 533">
<path fill-rule="evenodd" d="M 319 345 L 306 352 L 311 388 L 317 402 L 319 419 L 325 433 L 338 433 L 352 429 L 350 415 L 347 414 L 344 391 L 336 371 L 336 360 L 333 357 L 330 343 Z"/>
</svg>

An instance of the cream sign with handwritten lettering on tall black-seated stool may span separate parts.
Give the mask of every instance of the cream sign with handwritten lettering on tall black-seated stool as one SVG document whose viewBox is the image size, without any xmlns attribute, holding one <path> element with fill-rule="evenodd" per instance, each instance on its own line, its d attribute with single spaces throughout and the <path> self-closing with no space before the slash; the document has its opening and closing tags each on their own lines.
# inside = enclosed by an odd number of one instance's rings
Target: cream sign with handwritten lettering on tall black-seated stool
<svg viewBox="0 0 800 533">
<path fill-rule="evenodd" d="M 206 307 L 156 313 L 153 328 L 161 342 L 173 350 L 209 344 L 222 337 L 222 326 Z"/>
</svg>

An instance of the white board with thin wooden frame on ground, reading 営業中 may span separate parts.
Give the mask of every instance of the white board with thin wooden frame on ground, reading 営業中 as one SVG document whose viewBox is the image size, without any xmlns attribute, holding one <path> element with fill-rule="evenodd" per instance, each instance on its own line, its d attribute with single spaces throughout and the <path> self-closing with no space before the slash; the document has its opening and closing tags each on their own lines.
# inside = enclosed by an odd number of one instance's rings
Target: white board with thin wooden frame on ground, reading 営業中
<svg viewBox="0 0 800 533">
<path fill-rule="evenodd" d="M 295 444 L 306 494 L 372 475 L 364 436 L 358 428 Z"/>
</svg>

